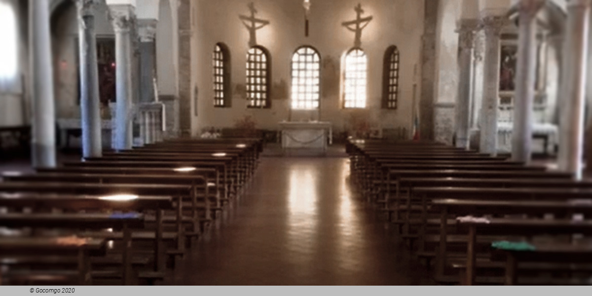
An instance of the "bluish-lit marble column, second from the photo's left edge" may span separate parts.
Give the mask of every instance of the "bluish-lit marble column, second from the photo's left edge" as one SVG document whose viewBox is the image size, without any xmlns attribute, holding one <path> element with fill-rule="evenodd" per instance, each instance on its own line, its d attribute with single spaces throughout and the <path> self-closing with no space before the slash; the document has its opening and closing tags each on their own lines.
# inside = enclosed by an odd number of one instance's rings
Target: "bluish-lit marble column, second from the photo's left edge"
<svg viewBox="0 0 592 296">
<path fill-rule="evenodd" d="M 78 0 L 78 35 L 81 83 L 82 156 L 102 155 L 99 76 L 96 64 L 96 0 Z"/>
</svg>

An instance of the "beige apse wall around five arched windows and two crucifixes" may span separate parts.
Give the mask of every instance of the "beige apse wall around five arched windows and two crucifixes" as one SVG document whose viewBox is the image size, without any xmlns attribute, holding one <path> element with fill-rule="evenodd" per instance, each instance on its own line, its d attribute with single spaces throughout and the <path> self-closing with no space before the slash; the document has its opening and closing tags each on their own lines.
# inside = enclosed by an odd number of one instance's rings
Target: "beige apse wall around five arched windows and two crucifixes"
<svg viewBox="0 0 592 296">
<path fill-rule="evenodd" d="M 257 18 L 269 25 L 257 31 L 257 41 L 271 55 L 271 108 L 247 108 L 245 92 L 245 62 L 249 49 L 249 31 L 239 15 L 250 15 L 244 0 L 198 1 L 194 9 L 194 96 L 192 133 L 204 127 L 233 127 L 235 120 L 252 115 L 258 128 L 275 130 L 278 122 L 290 116 L 291 57 L 299 46 L 309 45 L 321 55 L 320 116 L 316 112 L 292 112 L 293 119 L 308 118 L 331 121 L 336 131 L 345 130 L 352 115 L 367 118 L 374 128 L 411 129 L 413 114 L 413 83 L 417 82 L 419 99 L 421 48 L 423 34 L 423 1 L 407 0 L 323 0 L 311 1 L 310 35 L 304 36 L 302 1 L 254 1 Z M 342 66 L 345 52 L 353 47 L 354 33 L 342 26 L 343 21 L 356 18 L 354 7 L 360 3 L 362 17 L 372 21 L 362 32 L 361 47 L 368 57 L 368 88 L 365 109 L 343 109 L 341 99 Z M 212 53 L 216 43 L 226 44 L 231 55 L 230 108 L 214 107 Z M 400 91 L 397 110 L 381 108 L 382 63 L 388 46 L 400 51 Z M 197 116 L 195 115 L 197 112 Z"/>
</svg>

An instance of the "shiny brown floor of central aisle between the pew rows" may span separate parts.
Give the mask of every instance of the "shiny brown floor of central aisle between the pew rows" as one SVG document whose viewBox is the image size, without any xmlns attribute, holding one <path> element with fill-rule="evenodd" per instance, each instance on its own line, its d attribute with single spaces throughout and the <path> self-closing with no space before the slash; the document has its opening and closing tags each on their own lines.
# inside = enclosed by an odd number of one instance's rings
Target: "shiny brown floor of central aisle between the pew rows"
<svg viewBox="0 0 592 296">
<path fill-rule="evenodd" d="M 417 285 L 427 271 L 350 191 L 349 160 L 263 157 L 175 285 Z"/>
</svg>

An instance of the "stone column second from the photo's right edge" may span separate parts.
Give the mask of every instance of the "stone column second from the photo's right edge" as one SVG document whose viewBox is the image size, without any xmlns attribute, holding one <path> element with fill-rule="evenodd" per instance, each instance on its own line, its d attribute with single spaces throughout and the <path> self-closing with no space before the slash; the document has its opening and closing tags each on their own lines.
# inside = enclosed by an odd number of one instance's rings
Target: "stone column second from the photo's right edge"
<svg viewBox="0 0 592 296">
<path fill-rule="evenodd" d="M 542 0 L 519 3 L 519 37 L 516 66 L 516 94 L 512 130 L 512 159 L 530 162 L 532 153 L 533 102 L 536 81 L 536 14 Z"/>
</svg>

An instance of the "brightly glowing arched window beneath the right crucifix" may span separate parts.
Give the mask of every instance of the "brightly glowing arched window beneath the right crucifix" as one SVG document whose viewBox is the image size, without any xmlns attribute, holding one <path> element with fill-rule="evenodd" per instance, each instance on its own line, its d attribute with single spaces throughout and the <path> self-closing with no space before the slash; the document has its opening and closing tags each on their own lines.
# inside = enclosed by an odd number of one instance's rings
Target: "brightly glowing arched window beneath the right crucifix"
<svg viewBox="0 0 592 296">
<path fill-rule="evenodd" d="M 345 56 L 343 107 L 366 108 L 366 67 L 368 59 L 362 49 L 350 49 Z"/>
</svg>

